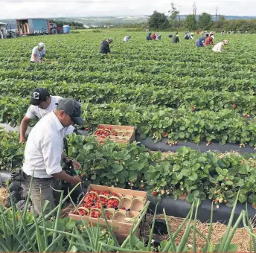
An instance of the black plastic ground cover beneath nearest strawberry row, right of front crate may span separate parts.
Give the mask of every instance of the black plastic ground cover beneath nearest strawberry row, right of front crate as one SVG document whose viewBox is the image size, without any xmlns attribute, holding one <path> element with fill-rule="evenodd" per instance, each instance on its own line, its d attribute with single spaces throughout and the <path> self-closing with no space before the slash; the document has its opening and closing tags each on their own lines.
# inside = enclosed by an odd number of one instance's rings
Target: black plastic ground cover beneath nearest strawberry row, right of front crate
<svg viewBox="0 0 256 253">
<path fill-rule="evenodd" d="M 150 200 L 150 211 L 155 211 L 156 203 L 158 199 L 153 196 L 148 196 Z M 252 208 L 251 204 L 247 205 L 249 217 L 255 217 L 256 210 Z M 161 198 L 161 202 L 157 207 L 156 213 L 163 214 L 163 209 L 165 213 L 169 216 L 185 218 L 188 215 L 188 212 L 191 210 L 191 203 L 185 202 L 185 200 L 177 199 L 174 200 L 170 196 Z M 234 211 L 234 222 L 237 221 L 242 210 L 246 210 L 246 204 L 237 203 L 237 207 Z M 220 208 L 217 208 L 217 205 L 214 204 L 214 213 L 213 213 L 213 222 L 221 222 L 228 224 L 228 220 L 231 215 L 232 208 L 228 207 L 225 204 L 220 204 Z M 197 220 L 201 222 L 209 222 L 211 219 L 211 200 L 206 199 L 201 202 L 198 208 Z M 240 227 L 243 227 L 243 222 L 240 222 Z"/>
</svg>

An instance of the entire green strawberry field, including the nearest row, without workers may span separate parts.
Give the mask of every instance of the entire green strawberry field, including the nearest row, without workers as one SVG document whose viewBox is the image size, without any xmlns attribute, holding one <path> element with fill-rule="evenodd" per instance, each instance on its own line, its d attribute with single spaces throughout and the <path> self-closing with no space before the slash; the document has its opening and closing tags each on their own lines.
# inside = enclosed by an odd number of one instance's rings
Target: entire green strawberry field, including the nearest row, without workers
<svg viewBox="0 0 256 253">
<path fill-rule="evenodd" d="M 127 33 L 132 39 L 122 42 Z M 83 106 L 86 128 L 98 124 L 135 126 L 141 137 L 167 144 L 179 141 L 256 144 L 255 36 L 231 34 L 225 54 L 196 48 L 195 40 L 174 45 L 147 42 L 143 32 L 83 31 L 68 36 L 34 36 L 1 41 L 0 122 L 19 125 L 31 91 L 73 97 Z M 98 54 L 100 41 L 112 37 L 112 55 Z M 182 37 L 182 35 L 181 35 Z M 217 35 L 215 42 L 223 39 Z M 45 42 L 48 61 L 29 63 L 31 49 Z M 246 42 L 245 42 L 246 41 Z M 0 166 L 22 163 L 24 145 L 17 133 L 0 132 Z M 69 137 L 69 151 L 83 166 L 83 183 L 141 188 L 156 196 L 220 199 L 256 203 L 255 155 L 201 154 L 182 147 L 161 158 L 138 145 L 99 147 L 93 138 Z M 217 201 L 216 203 L 218 203 Z"/>
</svg>

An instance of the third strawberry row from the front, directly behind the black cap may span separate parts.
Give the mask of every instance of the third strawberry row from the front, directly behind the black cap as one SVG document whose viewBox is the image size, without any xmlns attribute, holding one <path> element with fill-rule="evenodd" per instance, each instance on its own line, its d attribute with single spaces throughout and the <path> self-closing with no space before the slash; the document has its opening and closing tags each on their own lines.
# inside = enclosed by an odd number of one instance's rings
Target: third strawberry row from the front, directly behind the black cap
<svg viewBox="0 0 256 253">
<path fill-rule="evenodd" d="M 29 97 L 31 91 L 40 83 L 17 82 L 10 86 L 9 82 L 0 82 L 0 92 L 3 95 Z M 157 105 L 171 108 L 191 108 L 193 111 L 211 109 L 218 112 L 221 109 L 234 109 L 236 112 L 255 115 L 256 97 L 254 92 L 212 92 L 201 89 L 164 89 L 159 86 L 133 86 L 113 84 L 77 85 L 71 83 L 45 82 L 43 85 L 51 94 L 62 97 L 75 97 L 77 100 L 89 103 L 115 102 L 135 103 L 137 106 Z"/>
</svg>

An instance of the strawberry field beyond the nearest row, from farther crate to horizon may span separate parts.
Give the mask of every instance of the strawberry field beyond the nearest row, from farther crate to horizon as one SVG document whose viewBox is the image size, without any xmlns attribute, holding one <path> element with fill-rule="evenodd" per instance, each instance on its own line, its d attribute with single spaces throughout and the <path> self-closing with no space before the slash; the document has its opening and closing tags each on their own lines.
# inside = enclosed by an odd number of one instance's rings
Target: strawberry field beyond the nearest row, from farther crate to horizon
<svg viewBox="0 0 256 253">
<path fill-rule="evenodd" d="M 122 42 L 130 33 L 132 39 Z M 144 32 L 83 31 L 70 36 L 33 36 L 1 41 L 0 121 L 19 125 L 36 86 L 83 104 L 86 126 L 135 126 L 154 141 L 217 141 L 255 147 L 255 36 L 231 34 L 225 54 L 196 48 L 195 40 L 174 45 L 167 33 L 147 42 Z M 112 37 L 112 55 L 98 54 Z M 223 39 L 217 35 L 215 42 Z M 30 64 L 39 40 L 46 58 Z"/>
</svg>

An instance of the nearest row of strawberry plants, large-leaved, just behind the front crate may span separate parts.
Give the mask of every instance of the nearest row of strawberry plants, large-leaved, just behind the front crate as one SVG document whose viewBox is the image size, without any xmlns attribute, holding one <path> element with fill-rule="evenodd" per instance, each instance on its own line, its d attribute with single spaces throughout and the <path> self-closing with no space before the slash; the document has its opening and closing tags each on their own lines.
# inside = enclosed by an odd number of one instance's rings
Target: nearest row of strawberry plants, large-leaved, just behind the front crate
<svg viewBox="0 0 256 253">
<path fill-rule="evenodd" d="M 1 169 L 13 169 L 22 163 L 25 145 L 19 144 L 16 132 L 0 132 Z M 233 205 L 240 189 L 240 202 L 256 202 L 255 159 L 248 154 L 237 156 L 200 153 L 181 147 L 176 154 L 162 157 L 145 147 L 107 141 L 99 145 L 93 136 L 68 135 L 68 156 L 82 165 L 83 184 L 141 188 L 154 196 L 215 199 Z"/>
</svg>

